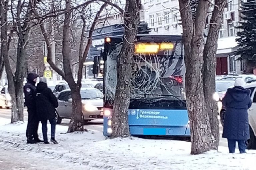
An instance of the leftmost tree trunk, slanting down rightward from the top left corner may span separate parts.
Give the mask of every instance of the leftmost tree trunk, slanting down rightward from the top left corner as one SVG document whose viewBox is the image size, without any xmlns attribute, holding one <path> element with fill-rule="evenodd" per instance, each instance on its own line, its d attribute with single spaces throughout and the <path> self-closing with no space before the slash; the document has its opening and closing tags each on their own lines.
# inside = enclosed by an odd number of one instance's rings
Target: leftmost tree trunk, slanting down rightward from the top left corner
<svg viewBox="0 0 256 170">
<path fill-rule="evenodd" d="M 8 1 L 1 0 L 0 2 L 0 20 L 1 20 L 1 56 L 3 56 L 5 70 L 8 79 L 8 91 L 12 99 L 12 109 L 11 109 L 11 123 L 18 121 L 18 111 L 16 105 L 16 95 L 15 95 L 15 86 L 13 80 L 13 73 L 10 67 L 9 55 L 8 55 L 8 38 L 7 38 L 7 10 L 8 10 Z"/>
</svg>

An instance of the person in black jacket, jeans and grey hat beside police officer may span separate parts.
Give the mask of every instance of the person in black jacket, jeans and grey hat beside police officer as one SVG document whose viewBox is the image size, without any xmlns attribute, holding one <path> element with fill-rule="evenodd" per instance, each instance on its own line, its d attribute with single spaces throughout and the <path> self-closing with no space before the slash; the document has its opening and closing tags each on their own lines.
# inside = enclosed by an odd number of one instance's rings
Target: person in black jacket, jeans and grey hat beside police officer
<svg viewBox="0 0 256 170">
<path fill-rule="evenodd" d="M 37 84 L 35 99 L 36 99 L 36 112 L 38 120 L 42 123 L 42 132 L 44 143 L 49 144 L 47 138 L 47 120 L 51 124 L 51 142 L 58 144 L 55 140 L 55 127 L 56 127 L 56 113 L 55 108 L 58 107 L 58 101 L 54 96 L 52 90 L 47 87 L 46 79 L 40 77 L 40 82 Z"/>
</svg>

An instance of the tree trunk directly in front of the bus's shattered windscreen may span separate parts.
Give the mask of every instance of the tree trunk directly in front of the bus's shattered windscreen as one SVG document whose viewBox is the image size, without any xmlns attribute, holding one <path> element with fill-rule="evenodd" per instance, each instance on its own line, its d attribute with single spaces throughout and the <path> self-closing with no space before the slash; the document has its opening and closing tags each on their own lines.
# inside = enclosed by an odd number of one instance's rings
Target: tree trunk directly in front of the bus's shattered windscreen
<svg viewBox="0 0 256 170">
<path fill-rule="evenodd" d="M 113 106 L 111 137 L 129 136 L 128 107 L 130 104 L 131 64 L 134 54 L 134 41 L 137 35 L 141 9 L 140 0 L 126 0 L 125 32 L 122 49 L 117 62 L 117 88 Z"/>
</svg>

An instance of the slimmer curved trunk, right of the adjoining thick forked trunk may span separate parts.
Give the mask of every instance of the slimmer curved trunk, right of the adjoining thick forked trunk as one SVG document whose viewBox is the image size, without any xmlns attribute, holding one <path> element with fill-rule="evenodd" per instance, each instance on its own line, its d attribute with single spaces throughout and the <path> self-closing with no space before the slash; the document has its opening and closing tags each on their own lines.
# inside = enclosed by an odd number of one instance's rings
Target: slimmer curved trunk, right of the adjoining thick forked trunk
<svg viewBox="0 0 256 170">
<path fill-rule="evenodd" d="M 219 120 L 217 114 L 216 101 L 213 100 L 215 93 L 215 73 L 216 73 L 216 51 L 218 36 L 222 23 L 222 15 L 226 6 L 226 0 L 215 0 L 214 11 L 210 20 L 210 28 L 207 41 L 204 47 L 203 65 L 203 89 L 207 113 L 211 125 L 211 147 L 217 150 L 219 146 Z"/>
</svg>

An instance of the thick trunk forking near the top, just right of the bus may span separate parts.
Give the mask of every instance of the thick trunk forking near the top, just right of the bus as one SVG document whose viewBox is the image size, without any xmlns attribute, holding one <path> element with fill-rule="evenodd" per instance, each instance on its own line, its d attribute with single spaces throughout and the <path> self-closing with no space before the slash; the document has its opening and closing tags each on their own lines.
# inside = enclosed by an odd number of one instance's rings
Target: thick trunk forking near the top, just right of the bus
<svg viewBox="0 0 256 170">
<path fill-rule="evenodd" d="M 179 0 L 183 26 L 183 43 L 186 65 L 186 97 L 191 131 L 191 154 L 210 150 L 211 128 L 206 111 L 202 66 L 204 47 L 204 25 L 209 8 L 208 1 L 199 1 L 195 21 L 190 1 Z"/>
</svg>

